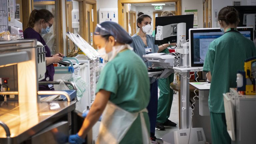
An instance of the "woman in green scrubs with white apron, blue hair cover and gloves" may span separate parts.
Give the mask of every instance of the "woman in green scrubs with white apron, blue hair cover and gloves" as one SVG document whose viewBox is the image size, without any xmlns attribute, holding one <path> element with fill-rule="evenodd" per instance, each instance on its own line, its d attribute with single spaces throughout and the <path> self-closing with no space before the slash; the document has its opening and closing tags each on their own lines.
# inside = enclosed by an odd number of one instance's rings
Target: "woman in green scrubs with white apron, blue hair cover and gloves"
<svg viewBox="0 0 256 144">
<path fill-rule="evenodd" d="M 132 38 L 117 23 L 97 25 L 94 43 L 108 63 L 101 72 L 95 101 L 79 132 L 69 137 L 70 143 L 83 143 L 102 113 L 97 144 L 150 143 L 147 67 L 128 45 L 131 42 Z"/>
</svg>

